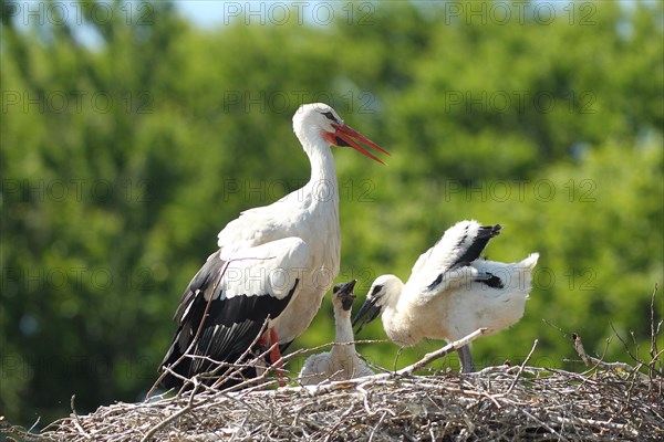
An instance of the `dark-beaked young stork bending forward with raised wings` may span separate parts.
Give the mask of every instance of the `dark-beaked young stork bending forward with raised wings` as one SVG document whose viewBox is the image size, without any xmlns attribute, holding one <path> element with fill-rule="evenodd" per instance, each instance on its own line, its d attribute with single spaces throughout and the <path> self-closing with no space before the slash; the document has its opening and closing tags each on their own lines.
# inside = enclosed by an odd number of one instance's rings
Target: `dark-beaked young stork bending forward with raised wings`
<svg viewBox="0 0 664 442">
<path fill-rule="evenodd" d="M 394 275 L 378 276 L 353 325 L 383 314 L 383 328 L 394 343 L 413 346 L 423 338 L 460 339 L 480 327 L 494 334 L 516 324 L 530 292 L 539 257 L 531 253 L 518 263 L 480 260 L 500 225 L 460 221 L 422 254 L 404 283 Z M 458 349 L 461 371 L 475 371 L 468 346 Z"/>
</svg>

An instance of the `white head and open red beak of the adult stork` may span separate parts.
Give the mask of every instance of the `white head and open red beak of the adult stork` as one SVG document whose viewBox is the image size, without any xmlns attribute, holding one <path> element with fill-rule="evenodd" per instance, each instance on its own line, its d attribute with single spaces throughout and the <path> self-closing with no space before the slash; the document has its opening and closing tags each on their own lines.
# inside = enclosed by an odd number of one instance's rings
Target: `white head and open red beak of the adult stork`
<svg viewBox="0 0 664 442">
<path fill-rule="evenodd" d="M 293 116 L 293 131 L 300 141 L 308 148 L 310 143 L 323 140 L 331 146 L 347 146 L 369 158 L 384 164 L 378 157 L 366 150 L 362 144 L 383 154 L 390 152 L 364 137 L 343 123 L 336 110 L 323 103 L 303 104 Z"/>
</svg>

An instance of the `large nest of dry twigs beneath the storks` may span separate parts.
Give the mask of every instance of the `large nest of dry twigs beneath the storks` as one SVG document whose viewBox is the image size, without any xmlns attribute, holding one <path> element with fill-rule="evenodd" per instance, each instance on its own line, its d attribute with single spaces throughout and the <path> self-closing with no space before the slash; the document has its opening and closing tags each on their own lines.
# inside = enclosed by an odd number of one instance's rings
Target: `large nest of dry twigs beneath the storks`
<svg viewBox="0 0 664 442">
<path fill-rule="evenodd" d="M 470 375 L 406 370 L 276 390 L 263 389 L 274 383 L 264 378 L 238 392 L 204 387 L 72 414 L 38 440 L 664 440 L 664 378 L 622 366 L 585 373 L 525 364 Z"/>
</svg>

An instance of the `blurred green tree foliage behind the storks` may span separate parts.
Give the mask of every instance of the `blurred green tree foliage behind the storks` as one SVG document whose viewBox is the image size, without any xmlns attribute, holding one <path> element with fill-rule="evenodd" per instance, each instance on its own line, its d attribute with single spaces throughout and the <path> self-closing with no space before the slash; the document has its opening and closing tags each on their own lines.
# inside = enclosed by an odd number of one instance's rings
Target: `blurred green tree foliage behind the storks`
<svg viewBox="0 0 664 442">
<path fill-rule="evenodd" d="M 79 412 L 143 399 L 217 232 L 309 178 L 291 116 L 313 101 L 392 152 L 382 167 L 335 151 L 355 308 L 375 276 L 406 278 L 475 218 L 505 225 L 492 259 L 541 253 L 523 319 L 474 346 L 480 367 L 520 362 L 538 338 L 532 364 L 580 369 L 542 319 L 630 361 L 606 344 L 613 325 L 646 356 L 663 281 L 662 2 L 215 4 L 224 23 L 199 28 L 165 2 L 2 2 L 6 419 L 43 425 L 74 393 Z M 325 299 L 294 347 L 333 332 Z M 378 322 L 361 336 L 383 337 Z M 397 347 L 360 351 L 391 368 Z"/>
</svg>

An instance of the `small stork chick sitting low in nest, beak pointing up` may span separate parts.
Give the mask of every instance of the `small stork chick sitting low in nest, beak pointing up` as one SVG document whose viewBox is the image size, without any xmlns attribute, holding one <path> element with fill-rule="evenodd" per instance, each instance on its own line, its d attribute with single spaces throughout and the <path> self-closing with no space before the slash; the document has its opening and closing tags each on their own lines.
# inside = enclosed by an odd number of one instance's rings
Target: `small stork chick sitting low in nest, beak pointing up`
<svg viewBox="0 0 664 442">
<path fill-rule="evenodd" d="M 336 284 L 332 290 L 332 305 L 334 306 L 334 323 L 336 335 L 334 346 L 330 351 L 312 355 L 307 358 L 300 371 L 300 382 L 303 386 L 315 386 L 326 380 L 346 380 L 373 376 L 374 372 L 364 360 L 355 352 L 352 344 L 353 326 L 351 325 L 351 307 L 355 301 L 353 288 L 356 281 Z"/>
</svg>

